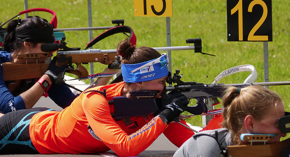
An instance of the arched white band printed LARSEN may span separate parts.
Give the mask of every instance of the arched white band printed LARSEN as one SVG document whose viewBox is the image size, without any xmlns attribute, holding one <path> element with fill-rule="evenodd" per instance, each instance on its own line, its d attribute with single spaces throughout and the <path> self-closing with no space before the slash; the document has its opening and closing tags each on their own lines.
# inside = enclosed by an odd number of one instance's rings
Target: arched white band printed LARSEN
<svg viewBox="0 0 290 157">
<path fill-rule="evenodd" d="M 247 65 L 239 65 L 239 66 L 231 67 L 221 72 L 220 75 L 215 77 L 215 81 L 213 83 L 220 81 L 225 76 L 229 76 L 238 72 L 251 72 L 251 74 L 245 79 L 243 83 L 253 83 L 257 80 L 256 68 L 253 65 L 247 64 Z"/>
</svg>

